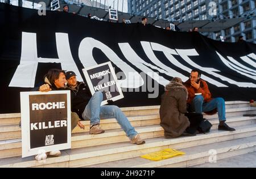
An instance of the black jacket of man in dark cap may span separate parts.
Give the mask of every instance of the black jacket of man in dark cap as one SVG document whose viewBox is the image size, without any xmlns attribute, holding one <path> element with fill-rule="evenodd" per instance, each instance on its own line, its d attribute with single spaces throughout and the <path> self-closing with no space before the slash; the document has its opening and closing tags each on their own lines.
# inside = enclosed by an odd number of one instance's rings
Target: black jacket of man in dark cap
<svg viewBox="0 0 256 179">
<path fill-rule="evenodd" d="M 82 119 L 82 112 L 86 105 L 89 103 L 92 94 L 90 93 L 89 87 L 83 82 L 77 82 L 76 88 L 67 88 L 71 91 L 71 111 L 76 112 L 80 119 Z M 85 119 L 84 119 L 85 120 Z"/>
</svg>

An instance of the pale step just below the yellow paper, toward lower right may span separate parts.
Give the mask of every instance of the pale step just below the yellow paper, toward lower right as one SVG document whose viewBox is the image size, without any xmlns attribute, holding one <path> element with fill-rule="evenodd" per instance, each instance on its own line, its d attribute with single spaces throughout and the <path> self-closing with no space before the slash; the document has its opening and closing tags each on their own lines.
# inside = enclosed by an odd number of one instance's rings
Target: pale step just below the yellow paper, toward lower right
<svg viewBox="0 0 256 179">
<path fill-rule="evenodd" d="M 133 157 L 125 160 L 112 161 L 100 165 L 89 165 L 88 167 L 101 168 L 155 168 L 155 167 L 191 167 L 202 163 L 213 163 L 218 166 L 221 159 L 227 157 L 247 154 L 256 151 L 256 136 L 204 144 L 202 146 L 183 148 L 185 155 L 175 156 L 170 159 L 151 161 L 141 157 Z M 216 157 L 215 157 L 216 156 Z M 255 155 L 254 155 L 255 156 Z M 215 160 L 216 159 L 216 160 Z M 204 164 L 205 165 L 205 164 Z M 204 166 L 201 165 L 201 166 Z M 208 164 L 210 165 L 210 164 Z"/>
</svg>

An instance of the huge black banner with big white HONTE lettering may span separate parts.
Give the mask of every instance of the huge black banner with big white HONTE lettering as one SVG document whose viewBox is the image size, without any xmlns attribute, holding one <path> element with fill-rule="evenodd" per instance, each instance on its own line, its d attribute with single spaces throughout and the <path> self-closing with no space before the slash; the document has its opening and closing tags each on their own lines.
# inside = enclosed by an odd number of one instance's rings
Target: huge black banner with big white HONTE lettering
<svg viewBox="0 0 256 179">
<path fill-rule="evenodd" d="M 59 11 L 40 16 L 37 10 L 3 3 L 0 27 L 0 113 L 20 112 L 19 92 L 38 86 L 51 68 L 75 71 L 85 82 L 82 69 L 109 61 L 121 74 L 124 98 L 115 101 L 120 107 L 160 105 L 164 86 L 175 76 L 185 82 L 194 68 L 202 71 L 213 97 L 256 100 L 256 45 L 250 42 L 221 42 L 198 32 Z"/>
</svg>

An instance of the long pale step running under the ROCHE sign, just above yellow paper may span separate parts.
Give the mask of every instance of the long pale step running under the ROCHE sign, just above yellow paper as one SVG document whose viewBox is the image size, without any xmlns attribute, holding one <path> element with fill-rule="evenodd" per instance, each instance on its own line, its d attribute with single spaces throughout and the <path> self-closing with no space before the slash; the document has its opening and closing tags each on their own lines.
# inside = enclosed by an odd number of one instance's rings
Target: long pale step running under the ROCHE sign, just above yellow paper
<svg viewBox="0 0 256 179">
<path fill-rule="evenodd" d="M 34 157 L 10 157 L 0 160 L 0 167 L 84 167 L 106 163 L 109 161 L 129 159 L 164 148 L 188 148 L 225 140 L 251 137 L 256 135 L 256 125 L 238 126 L 236 131 L 212 130 L 209 134 L 195 137 L 175 139 L 151 138 L 146 144 L 132 145 L 128 142 L 106 144 L 101 146 L 83 147 L 64 150 L 60 157 L 49 158 L 45 163 L 34 160 Z"/>
</svg>

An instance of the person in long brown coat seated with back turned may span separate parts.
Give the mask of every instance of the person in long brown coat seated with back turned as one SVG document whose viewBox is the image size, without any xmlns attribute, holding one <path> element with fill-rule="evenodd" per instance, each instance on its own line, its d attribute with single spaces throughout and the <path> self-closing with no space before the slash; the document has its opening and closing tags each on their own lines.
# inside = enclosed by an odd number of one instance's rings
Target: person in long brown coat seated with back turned
<svg viewBox="0 0 256 179">
<path fill-rule="evenodd" d="M 187 88 L 180 78 L 173 78 L 165 88 L 160 106 L 160 126 L 165 138 L 176 138 L 189 126 L 187 113 Z"/>
</svg>

